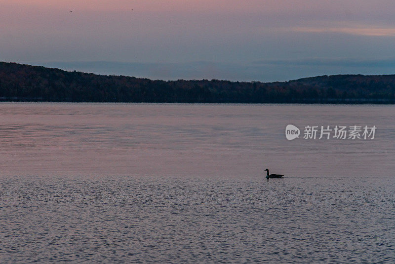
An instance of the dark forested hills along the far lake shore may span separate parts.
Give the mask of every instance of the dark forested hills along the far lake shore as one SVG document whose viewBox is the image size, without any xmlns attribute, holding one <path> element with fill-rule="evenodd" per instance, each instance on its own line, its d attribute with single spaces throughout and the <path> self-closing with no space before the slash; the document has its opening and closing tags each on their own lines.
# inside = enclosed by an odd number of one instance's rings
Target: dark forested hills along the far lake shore
<svg viewBox="0 0 395 264">
<path fill-rule="evenodd" d="M 395 103 L 395 75 L 289 82 L 149 79 L 0 62 L 0 100 L 61 102 Z"/>
</svg>

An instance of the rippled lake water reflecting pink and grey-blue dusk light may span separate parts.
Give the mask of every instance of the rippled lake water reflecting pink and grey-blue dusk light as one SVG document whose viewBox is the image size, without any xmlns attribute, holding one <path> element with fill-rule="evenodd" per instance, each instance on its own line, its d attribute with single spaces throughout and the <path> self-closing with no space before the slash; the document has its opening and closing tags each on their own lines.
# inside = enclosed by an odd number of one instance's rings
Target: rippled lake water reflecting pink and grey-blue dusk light
<svg viewBox="0 0 395 264">
<path fill-rule="evenodd" d="M 391 105 L 1 103 L 0 263 L 394 263 L 394 116 Z M 288 124 L 300 138 L 285 138 Z M 336 125 L 377 130 L 303 138 Z M 285 177 L 266 180 L 266 168 Z"/>
</svg>

